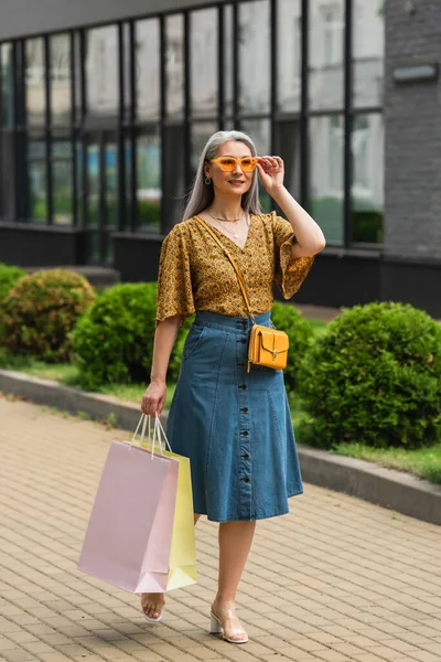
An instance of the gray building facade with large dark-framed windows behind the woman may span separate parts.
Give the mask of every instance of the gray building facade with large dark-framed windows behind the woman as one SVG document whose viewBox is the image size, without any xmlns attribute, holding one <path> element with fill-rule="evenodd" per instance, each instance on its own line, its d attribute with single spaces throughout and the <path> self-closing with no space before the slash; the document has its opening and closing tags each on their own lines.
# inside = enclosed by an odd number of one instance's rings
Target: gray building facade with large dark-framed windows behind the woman
<svg viewBox="0 0 441 662">
<path fill-rule="evenodd" d="M 2 0 L 0 260 L 154 279 L 202 147 L 239 128 L 326 236 L 299 300 L 441 317 L 437 0 L 89 4 Z"/>
</svg>

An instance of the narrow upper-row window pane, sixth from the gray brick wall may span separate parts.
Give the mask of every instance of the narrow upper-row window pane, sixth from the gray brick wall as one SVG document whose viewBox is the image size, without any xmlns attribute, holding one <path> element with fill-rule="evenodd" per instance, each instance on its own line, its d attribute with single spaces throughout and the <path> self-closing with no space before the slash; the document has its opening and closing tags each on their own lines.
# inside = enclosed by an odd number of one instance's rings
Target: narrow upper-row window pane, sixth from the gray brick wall
<svg viewBox="0 0 441 662">
<path fill-rule="evenodd" d="M 184 18 L 174 14 L 165 19 L 166 114 L 184 114 Z"/>
</svg>

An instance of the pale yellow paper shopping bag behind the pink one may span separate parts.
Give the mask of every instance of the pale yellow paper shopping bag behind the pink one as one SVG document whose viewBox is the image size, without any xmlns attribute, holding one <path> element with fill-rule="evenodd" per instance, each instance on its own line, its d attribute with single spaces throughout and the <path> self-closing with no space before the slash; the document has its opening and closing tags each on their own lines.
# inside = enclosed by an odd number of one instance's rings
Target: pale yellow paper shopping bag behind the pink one
<svg viewBox="0 0 441 662">
<path fill-rule="evenodd" d="M 143 430 L 146 429 L 146 418 L 143 420 Z M 162 439 L 166 436 L 161 425 L 159 417 L 154 421 L 153 440 L 151 439 L 150 418 L 149 418 L 149 442 L 143 444 L 146 448 L 152 449 L 153 452 L 162 453 L 169 458 L 178 460 L 180 463 L 178 489 L 176 489 L 176 508 L 174 512 L 172 547 L 170 552 L 170 570 L 166 590 L 174 588 L 183 588 L 191 584 L 196 584 L 196 542 L 194 535 L 194 516 L 193 516 L 193 491 L 191 480 L 190 458 L 176 455 L 170 450 L 164 450 Z M 157 448 L 155 441 L 159 441 Z M 170 445 L 169 445 L 170 448 Z"/>
</svg>

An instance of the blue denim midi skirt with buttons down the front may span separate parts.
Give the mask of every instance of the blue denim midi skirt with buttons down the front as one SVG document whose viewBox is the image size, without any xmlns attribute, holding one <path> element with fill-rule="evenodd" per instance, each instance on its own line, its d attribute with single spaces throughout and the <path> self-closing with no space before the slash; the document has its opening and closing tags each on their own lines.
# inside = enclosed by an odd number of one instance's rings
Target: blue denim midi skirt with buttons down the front
<svg viewBox="0 0 441 662">
<path fill-rule="evenodd" d="M 271 327 L 270 312 L 256 317 Z M 200 311 L 183 351 L 168 436 L 190 458 L 194 512 L 214 522 L 288 513 L 302 479 L 283 372 L 251 365 L 251 320 Z"/>
</svg>

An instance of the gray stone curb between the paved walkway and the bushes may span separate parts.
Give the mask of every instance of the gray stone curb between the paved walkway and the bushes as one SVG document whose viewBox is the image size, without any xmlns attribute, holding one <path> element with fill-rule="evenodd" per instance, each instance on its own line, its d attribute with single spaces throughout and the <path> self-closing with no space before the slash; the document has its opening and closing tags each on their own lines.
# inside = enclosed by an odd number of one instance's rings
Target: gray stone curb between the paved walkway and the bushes
<svg viewBox="0 0 441 662">
<path fill-rule="evenodd" d="M 112 415 L 117 427 L 127 430 L 135 430 L 140 418 L 136 403 L 121 403 L 114 396 L 99 393 L 84 393 L 21 372 L 0 370 L 0 391 L 69 414 L 85 412 L 96 419 L 107 419 Z M 161 415 L 161 423 L 166 425 L 166 413 Z M 299 445 L 298 452 L 305 482 L 358 496 L 417 520 L 441 524 L 440 485 L 373 462 L 308 446 Z"/>
</svg>

